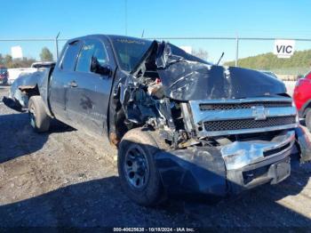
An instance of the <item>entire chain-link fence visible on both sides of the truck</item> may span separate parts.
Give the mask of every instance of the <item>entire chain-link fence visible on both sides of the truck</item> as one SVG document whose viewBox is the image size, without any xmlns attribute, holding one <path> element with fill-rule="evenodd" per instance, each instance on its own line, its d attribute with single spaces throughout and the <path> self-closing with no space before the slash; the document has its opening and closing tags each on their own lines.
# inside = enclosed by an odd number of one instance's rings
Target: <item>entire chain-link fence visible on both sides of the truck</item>
<svg viewBox="0 0 311 233">
<path fill-rule="evenodd" d="M 290 59 L 277 58 L 273 54 L 276 38 L 241 37 L 157 37 L 148 38 L 168 41 L 187 52 L 209 60 L 214 64 L 239 66 L 271 71 L 283 80 L 296 80 L 311 67 L 311 39 L 295 39 L 295 53 Z M 26 72 L 34 62 L 57 60 L 67 39 L 2 39 L 0 38 L 0 79 L 4 69 L 8 73 L 8 83 Z M 20 48 L 21 56 L 14 58 L 12 48 Z M 45 52 L 44 52 L 45 51 Z M 48 51 L 48 52 L 47 52 Z M 50 53 L 49 53 L 50 52 Z M 219 61 L 222 52 L 224 56 Z M 1 81 L 0 81 L 1 84 Z"/>
</svg>

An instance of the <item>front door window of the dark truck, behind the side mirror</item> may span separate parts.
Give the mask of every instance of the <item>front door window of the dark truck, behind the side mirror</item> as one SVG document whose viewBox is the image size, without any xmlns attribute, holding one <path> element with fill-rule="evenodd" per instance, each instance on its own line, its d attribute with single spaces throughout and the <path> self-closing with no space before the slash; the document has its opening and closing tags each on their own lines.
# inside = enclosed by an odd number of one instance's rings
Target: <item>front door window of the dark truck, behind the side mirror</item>
<svg viewBox="0 0 311 233">
<path fill-rule="evenodd" d="M 100 65 L 108 64 L 108 56 L 100 41 L 88 41 L 84 44 L 76 62 L 76 71 L 90 72 L 92 57 L 95 57 Z"/>
</svg>

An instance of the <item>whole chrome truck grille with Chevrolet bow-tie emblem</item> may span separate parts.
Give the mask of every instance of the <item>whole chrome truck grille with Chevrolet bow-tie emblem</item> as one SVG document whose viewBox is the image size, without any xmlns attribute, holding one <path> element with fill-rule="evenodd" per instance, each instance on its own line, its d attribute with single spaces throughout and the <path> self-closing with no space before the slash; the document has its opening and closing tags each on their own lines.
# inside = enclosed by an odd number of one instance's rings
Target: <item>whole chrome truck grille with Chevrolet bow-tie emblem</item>
<svg viewBox="0 0 311 233">
<path fill-rule="evenodd" d="M 298 125 L 297 109 L 289 97 L 190 100 L 180 106 L 187 130 L 195 130 L 198 137 L 260 133 Z"/>
</svg>

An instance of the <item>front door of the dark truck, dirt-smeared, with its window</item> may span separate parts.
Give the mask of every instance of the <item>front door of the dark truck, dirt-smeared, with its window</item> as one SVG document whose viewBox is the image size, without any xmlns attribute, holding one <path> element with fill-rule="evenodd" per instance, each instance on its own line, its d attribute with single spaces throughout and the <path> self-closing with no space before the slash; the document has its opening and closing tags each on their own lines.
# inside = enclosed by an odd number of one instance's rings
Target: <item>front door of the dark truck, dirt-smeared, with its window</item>
<svg viewBox="0 0 311 233">
<path fill-rule="evenodd" d="M 111 66 L 106 45 L 100 39 L 84 40 L 76 61 L 74 76 L 69 80 L 68 119 L 76 128 L 95 134 L 107 130 L 108 101 L 113 82 L 112 76 L 91 72 L 92 57 L 101 66 Z"/>
</svg>

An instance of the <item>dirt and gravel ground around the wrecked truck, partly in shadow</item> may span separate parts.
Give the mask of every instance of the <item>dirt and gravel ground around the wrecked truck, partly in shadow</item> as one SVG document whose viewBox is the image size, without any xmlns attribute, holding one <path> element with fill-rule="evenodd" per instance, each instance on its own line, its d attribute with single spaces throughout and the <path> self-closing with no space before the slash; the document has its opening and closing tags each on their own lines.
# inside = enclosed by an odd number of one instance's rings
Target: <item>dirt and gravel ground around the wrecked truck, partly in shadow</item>
<svg viewBox="0 0 311 233">
<path fill-rule="evenodd" d="M 8 89 L 0 89 L 0 100 Z M 0 227 L 311 227 L 311 165 L 217 205 L 171 201 L 148 209 L 120 189 L 116 150 L 54 122 L 33 133 L 27 113 L 0 102 Z"/>
</svg>

